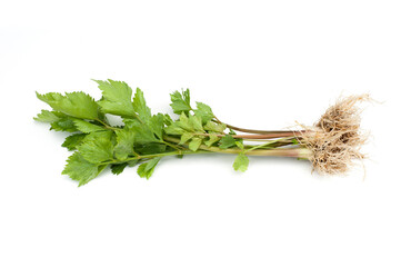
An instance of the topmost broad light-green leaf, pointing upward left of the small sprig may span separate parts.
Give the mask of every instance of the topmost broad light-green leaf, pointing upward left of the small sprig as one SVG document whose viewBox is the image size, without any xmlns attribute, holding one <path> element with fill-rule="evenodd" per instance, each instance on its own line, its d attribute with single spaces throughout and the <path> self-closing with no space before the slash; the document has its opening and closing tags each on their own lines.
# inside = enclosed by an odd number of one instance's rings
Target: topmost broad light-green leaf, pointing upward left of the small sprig
<svg viewBox="0 0 401 267">
<path fill-rule="evenodd" d="M 132 89 L 126 82 L 111 79 L 94 81 L 103 95 L 98 103 L 104 112 L 131 118 L 137 116 L 132 105 Z"/>
</svg>

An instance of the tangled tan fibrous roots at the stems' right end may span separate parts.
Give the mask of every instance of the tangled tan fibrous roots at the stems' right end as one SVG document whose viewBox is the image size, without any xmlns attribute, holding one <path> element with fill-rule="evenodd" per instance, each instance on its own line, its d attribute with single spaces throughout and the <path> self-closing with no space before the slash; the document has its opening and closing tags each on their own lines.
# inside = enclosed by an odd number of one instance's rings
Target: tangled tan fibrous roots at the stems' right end
<svg viewBox="0 0 401 267">
<path fill-rule="evenodd" d="M 301 144 L 312 150 L 313 170 L 320 174 L 343 174 L 353 159 L 364 157 L 360 152 L 367 135 L 360 129 L 360 108 L 355 103 L 369 100 L 369 95 L 351 96 L 331 106 L 314 127 L 304 127 Z"/>
</svg>

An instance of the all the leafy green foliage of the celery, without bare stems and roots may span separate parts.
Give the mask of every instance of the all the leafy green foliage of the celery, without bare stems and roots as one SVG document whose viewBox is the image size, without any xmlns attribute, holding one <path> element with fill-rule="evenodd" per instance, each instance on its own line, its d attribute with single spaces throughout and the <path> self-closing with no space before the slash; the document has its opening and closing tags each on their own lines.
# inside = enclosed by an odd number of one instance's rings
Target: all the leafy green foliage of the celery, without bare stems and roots
<svg viewBox="0 0 401 267">
<path fill-rule="evenodd" d="M 73 132 L 61 145 L 74 151 L 62 174 L 82 186 L 110 166 L 121 174 L 127 167 L 139 165 L 138 175 L 149 179 L 166 156 L 223 151 L 239 154 L 233 167 L 244 171 L 249 159 L 242 139 L 215 119 L 212 109 L 197 102 L 192 109 L 189 89 L 171 93 L 171 107 L 178 119 L 167 113 L 152 115 L 143 92 L 123 81 L 96 80 L 102 98 L 94 101 L 83 92 L 61 95 L 37 93 L 52 110 L 41 110 L 34 120 L 51 125 L 52 130 Z M 111 126 L 108 116 L 120 116 L 123 125 Z M 248 148 L 248 147 L 247 147 Z"/>
</svg>

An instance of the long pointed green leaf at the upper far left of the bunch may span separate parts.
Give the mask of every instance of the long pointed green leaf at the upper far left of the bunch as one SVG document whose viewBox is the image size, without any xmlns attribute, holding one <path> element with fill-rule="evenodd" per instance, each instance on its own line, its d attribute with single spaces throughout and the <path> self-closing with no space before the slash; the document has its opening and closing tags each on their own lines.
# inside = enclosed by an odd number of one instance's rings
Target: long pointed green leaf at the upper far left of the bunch
<svg viewBox="0 0 401 267">
<path fill-rule="evenodd" d="M 98 105 L 93 98 L 84 92 L 67 92 L 66 96 L 58 92 L 46 95 L 37 92 L 37 97 L 54 110 L 66 115 L 81 119 L 98 119 Z"/>
</svg>

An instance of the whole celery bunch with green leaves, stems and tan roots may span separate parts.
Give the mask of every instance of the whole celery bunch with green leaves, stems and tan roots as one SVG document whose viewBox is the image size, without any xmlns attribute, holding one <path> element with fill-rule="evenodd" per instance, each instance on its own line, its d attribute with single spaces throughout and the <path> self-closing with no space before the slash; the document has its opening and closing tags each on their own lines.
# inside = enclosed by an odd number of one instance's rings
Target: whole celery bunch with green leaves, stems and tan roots
<svg viewBox="0 0 401 267">
<path fill-rule="evenodd" d="M 107 167 L 116 175 L 127 166 L 138 167 L 149 178 L 159 160 L 192 154 L 233 154 L 235 170 L 244 171 L 249 156 L 291 157 L 310 160 L 320 174 L 345 172 L 353 159 L 361 159 L 367 136 L 360 129 L 358 102 L 368 95 L 340 99 L 313 126 L 298 130 L 254 130 L 224 123 L 202 102 L 192 108 L 189 90 L 171 93 L 171 107 L 179 115 L 151 115 L 143 92 L 122 81 L 97 80 L 102 91 L 98 101 L 83 92 L 37 93 L 53 110 L 42 110 L 34 119 L 49 122 L 51 130 L 72 135 L 62 144 L 74 154 L 63 174 L 84 185 Z M 121 125 L 109 122 L 119 116 Z M 258 142 L 254 142 L 258 141 Z"/>
</svg>

